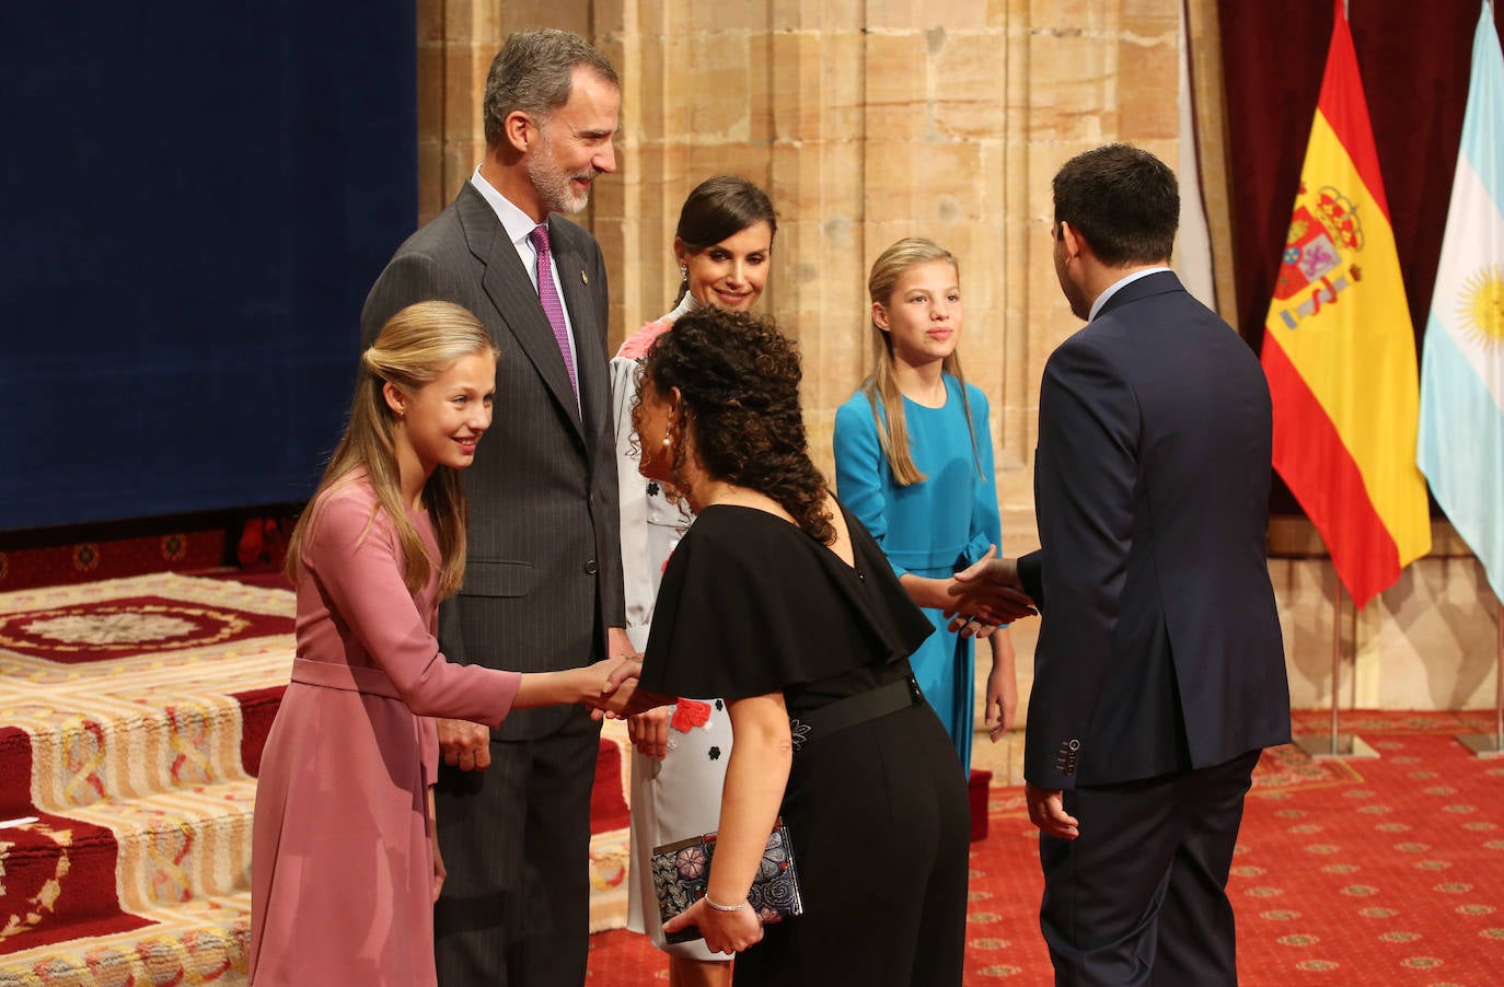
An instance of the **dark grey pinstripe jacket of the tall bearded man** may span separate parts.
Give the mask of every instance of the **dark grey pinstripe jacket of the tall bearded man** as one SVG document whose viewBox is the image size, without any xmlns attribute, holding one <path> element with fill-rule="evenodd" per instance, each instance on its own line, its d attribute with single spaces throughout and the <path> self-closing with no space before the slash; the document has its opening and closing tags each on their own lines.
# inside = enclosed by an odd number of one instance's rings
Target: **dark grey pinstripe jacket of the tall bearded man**
<svg viewBox="0 0 1504 987">
<path fill-rule="evenodd" d="M 468 181 L 397 250 L 361 313 L 368 346 L 405 305 L 453 301 L 501 349 L 495 417 L 465 471 L 465 585 L 439 609 L 439 645 L 451 661 L 516 671 L 603 657 L 605 627 L 624 624 L 606 268 L 600 245 L 573 223 L 549 217 L 549 238 L 575 328 L 579 409 L 537 289 Z M 517 710 L 496 736 L 544 736 L 570 710 Z"/>
</svg>

